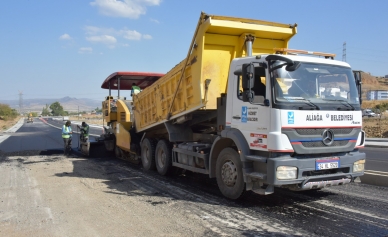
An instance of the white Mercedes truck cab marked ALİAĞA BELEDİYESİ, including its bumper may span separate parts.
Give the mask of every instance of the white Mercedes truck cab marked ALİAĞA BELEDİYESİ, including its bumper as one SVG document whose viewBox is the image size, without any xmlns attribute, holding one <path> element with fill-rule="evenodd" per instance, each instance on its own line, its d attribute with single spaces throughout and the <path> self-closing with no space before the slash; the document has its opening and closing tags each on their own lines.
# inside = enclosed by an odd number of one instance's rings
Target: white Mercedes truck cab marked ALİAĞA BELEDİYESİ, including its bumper
<svg viewBox="0 0 388 237">
<path fill-rule="evenodd" d="M 239 151 L 247 189 L 320 189 L 363 175 L 356 81 L 350 66 L 336 60 L 274 54 L 234 59 L 222 136 L 241 134 L 247 142 Z"/>
</svg>

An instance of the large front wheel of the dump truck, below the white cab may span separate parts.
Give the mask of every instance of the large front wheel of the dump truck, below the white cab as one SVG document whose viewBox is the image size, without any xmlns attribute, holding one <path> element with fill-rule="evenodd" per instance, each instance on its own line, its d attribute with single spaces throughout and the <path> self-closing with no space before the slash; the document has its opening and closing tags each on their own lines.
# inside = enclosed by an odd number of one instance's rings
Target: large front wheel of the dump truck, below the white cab
<svg viewBox="0 0 388 237">
<path fill-rule="evenodd" d="M 233 148 L 221 151 L 216 164 L 216 177 L 221 193 L 230 199 L 238 199 L 245 191 L 240 155 Z"/>
</svg>

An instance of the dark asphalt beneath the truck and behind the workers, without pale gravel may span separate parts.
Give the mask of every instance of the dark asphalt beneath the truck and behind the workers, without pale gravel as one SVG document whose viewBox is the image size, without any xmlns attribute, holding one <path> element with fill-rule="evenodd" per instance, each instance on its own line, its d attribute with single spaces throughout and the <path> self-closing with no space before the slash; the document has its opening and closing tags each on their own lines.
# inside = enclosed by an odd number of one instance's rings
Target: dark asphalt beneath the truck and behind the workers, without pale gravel
<svg viewBox="0 0 388 237">
<path fill-rule="evenodd" d="M 75 148 L 76 143 L 75 136 Z M 28 156 L 59 154 L 63 151 L 61 144 L 58 128 L 34 120 L 0 144 L 0 155 L 4 159 L 27 156 L 25 160 L 18 158 L 18 166 L 29 165 Z M 33 145 L 37 146 L 33 150 L 21 150 Z M 111 193 L 141 195 L 158 210 L 190 213 L 187 221 L 192 216 L 205 220 L 201 227 L 204 236 L 388 236 L 386 187 L 352 183 L 311 192 L 275 189 L 272 195 L 247 192 L 242 200 L 230 201 L 220 194 L 216 181 L 205 175 L 179 172 L 160 176 L 101 151 L 89 159 L 74 160 L 72 172 L 62 175 L 103 180 Z M 384 154 L 382 150 L 380 156 Z M 144 220 L 144 224 L 151 223 Z"/>
</svg>

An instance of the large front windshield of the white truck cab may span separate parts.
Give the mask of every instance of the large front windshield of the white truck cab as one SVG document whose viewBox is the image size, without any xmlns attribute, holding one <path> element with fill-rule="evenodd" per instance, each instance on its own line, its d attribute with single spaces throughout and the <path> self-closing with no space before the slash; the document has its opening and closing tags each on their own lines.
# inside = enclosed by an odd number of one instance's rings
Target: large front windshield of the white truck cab
<svg viewBox="0 0 388 237">
<path fill-rule="evenodd" d="M 281 63 L 275 63 L 274 67 Z M 283 66 L 275 69 L 272 76 L 278 105 L 302 103 L 317 109 L 323 106 L 325 109 L 340 110 L 339 107 L 345 107 L 355 110 L 357 107 L 359 110 L 353 72 L 348 67 L 301 62 L 295 71 L 287 71 Z"/>
</svg>

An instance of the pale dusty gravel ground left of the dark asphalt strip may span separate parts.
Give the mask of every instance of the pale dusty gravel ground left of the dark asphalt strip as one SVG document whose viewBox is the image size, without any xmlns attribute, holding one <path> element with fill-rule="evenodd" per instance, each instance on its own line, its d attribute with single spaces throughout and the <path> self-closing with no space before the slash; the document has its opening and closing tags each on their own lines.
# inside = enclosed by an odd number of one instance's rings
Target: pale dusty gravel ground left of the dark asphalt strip
<svg viewBox="0 0 388 237">
<path fill-rule="evenodd" d="M 124 184 L 138 179 L 136 175 L 117 177 L 114 189 L 104 178 L 106 170 L 95 169 L 82 158 L 2 159 L 2 236 L 206 235 L 201 228 L 206 223 L 179 205 L 160 208 L 158 204 L 168 204 L 170 198 L 153 197 L 141 187 Z"/>
</svg>

